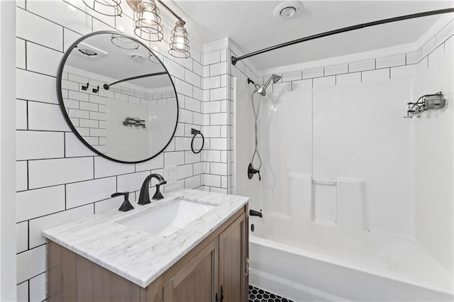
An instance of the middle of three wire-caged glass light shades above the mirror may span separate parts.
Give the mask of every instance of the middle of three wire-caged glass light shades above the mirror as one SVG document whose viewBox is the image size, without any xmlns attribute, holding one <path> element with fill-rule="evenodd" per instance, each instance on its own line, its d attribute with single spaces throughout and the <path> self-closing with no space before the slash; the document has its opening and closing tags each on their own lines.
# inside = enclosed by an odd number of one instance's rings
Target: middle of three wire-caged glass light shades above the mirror
<svg viewBox="0 0 454 302">
<path fill-rule="evenodd" d="M 161 17 L 154 0 L 142 0 L 137 6 L 135 14 L 134 33 L 147 41 L 160 41 L 162 33 Z"/>
</svg>

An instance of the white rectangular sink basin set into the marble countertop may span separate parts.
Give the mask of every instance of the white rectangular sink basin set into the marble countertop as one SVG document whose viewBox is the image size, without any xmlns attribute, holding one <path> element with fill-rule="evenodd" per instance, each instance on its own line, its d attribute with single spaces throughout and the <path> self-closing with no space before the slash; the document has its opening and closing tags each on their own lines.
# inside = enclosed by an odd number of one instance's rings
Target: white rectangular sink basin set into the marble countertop
<svg viewBox="0 0 454 302">
<path fill-rule="evenodd" d="M 118 223 L 153 235 L 167 237 L 214 207 L 216 206 L 209 203 L 176 198 L 163 206 L 151 208 L 150 211 L 126 218 Z"/>
</svg>

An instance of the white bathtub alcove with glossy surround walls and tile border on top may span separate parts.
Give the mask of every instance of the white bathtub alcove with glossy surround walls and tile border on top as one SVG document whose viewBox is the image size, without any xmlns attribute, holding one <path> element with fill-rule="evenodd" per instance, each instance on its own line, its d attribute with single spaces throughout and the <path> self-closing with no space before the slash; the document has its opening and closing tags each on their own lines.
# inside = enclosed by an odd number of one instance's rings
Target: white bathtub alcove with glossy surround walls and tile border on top
<svg viewBox="0 0 454 302">
<path fill-rule="evenodd" d="M 282 75 L 260 99 L 262 181 L 246 174 L 253 86 L 232 67 L 234 187 L 263 213 L 250 218 L 251 285 L 294 301 L 453 301 L 454 21 L 443 22 L 410 49 L 260 73 Z M 404 118 L 438 91 L 443 111 Z"/>
</svg>

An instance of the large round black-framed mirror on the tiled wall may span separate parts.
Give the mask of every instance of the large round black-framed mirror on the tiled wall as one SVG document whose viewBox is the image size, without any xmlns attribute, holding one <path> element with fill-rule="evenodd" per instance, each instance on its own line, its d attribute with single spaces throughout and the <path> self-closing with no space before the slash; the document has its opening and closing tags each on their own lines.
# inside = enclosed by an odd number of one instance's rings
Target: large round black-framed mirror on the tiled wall
<svg viewBox="0 0 454 302">
<path fill-rule="evenodd" d="M 73 133 L 115 162 L 145 162 L 170 144 L 178 99 L 153 50 L 115 31 L 84 35 L 65 52 L 57 96 Z"/>
</svg>

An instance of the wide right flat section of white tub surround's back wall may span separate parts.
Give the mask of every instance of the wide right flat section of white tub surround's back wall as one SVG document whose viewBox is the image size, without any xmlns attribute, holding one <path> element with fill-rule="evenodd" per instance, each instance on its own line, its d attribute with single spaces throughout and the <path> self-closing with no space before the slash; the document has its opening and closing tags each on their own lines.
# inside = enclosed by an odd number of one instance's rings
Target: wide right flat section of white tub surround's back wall
<svg viewBox="0 0 454 302">
<path fill-rule="evenodd" d="M 414 236 L 409 123 L 411 79 L 339 86 L 338 169 L 340 178 L 365 181 L 371 229 Z M 382 111 L 382 108 L 384 111 Z"/>
</svg>

